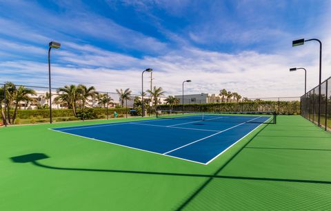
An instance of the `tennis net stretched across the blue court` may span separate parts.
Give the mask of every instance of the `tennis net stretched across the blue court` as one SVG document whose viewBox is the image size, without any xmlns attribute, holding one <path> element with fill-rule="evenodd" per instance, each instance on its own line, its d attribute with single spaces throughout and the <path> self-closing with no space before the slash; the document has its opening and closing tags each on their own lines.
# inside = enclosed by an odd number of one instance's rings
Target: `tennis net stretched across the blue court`
<svg viewBox="0 0 331 211">
<path fill-rule="evenodd" d="M 158 110 L 157 118 L 183 121 L 212 121 L 212 122 L 251 122 L 260 124 L 276 124 L 275 111 L 170 111 Z"/>
</svg>

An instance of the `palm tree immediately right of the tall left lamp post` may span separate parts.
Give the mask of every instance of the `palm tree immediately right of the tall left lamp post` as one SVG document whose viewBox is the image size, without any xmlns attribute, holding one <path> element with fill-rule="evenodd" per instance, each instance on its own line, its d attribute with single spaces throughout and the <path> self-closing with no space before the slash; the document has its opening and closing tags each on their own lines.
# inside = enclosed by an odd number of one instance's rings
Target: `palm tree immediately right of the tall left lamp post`
<svg viewBox="0 0 331 211">
<path fill-rule="evenodd" d="M 66 102 L 68 104 L 68 108 L 72 109 L 74 116 L 76 116 L 76 105 L 77 100 L 79 100 L 79 91 L 76 85 L 66 85 L 57 89 L 57 93 L 59 93 L 59 99 L 62 102 Z"/>
</svg>

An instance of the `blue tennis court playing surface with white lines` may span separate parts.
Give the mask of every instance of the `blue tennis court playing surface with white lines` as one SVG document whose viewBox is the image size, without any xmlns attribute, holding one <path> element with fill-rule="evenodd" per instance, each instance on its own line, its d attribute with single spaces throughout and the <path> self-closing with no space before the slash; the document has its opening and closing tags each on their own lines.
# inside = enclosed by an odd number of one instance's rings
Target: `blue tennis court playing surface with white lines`
<svg viewBox="0 0 331 211">
<path fill-rule="evenodd" d="M 208 164 L 268 116 L 223 116 L 226 121 L 157 119 L 52 129 L 190 162 Z"/>
</svg>

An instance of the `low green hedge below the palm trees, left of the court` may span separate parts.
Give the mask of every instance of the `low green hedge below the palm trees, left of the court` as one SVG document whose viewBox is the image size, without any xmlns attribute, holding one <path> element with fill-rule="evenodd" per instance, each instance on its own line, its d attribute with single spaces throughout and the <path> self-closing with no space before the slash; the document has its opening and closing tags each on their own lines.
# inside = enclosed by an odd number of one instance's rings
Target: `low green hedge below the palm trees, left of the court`
<svg viewBox="0 0 331 211">
<path fill-rule="evenodd" d="M 116 111 L 119 114 L 125 114 L 126 111 L 129 109 L 120 108 L 120 109 L 108 109 L 108 115 L 112 115 L 114 111 Z M 81 109 L 77 109 L 77 112 L 81 111 Z M 94 113 L 96 113 L 98 116 L 100 115 L 107 115 L 107 109 L 93 109 Z M 10 111 L 11 115 L 14 113 L 14 111 Z M 58 117 L 72 117 L 74 113 L 72 112 L 72 109 L 53 109 L 52 110 L 52 117 L 58 118 Z M 41 117 L 41 118 L 50 118 L 50 110 L 18 110 L 17 111 L 17 118 L 19 119 L 29 119 L 31 117 Z"/>
</svg>

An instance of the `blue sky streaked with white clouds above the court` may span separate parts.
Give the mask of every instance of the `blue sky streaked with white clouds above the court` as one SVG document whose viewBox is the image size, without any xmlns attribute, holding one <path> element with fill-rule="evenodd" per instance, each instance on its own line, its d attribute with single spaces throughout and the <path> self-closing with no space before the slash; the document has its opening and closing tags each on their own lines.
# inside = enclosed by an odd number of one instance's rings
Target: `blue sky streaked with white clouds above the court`
<svg viewBox="0 0 331 211">
<path fill-rule="evenodd" d="M 243 96 L 301 96 L 317 85 L 318 45 L 292 48 L 296 38 L 323 41 L 323 78 L 331 69 L 330 1 L 1 1 L 0 81 L 53 86 L 84 83 L 99 90 L 140 91 L 141 71 L 167 94 L 237 91 Z M 148 87 L 146 75 L 146 87 Z"/>
</svg>

